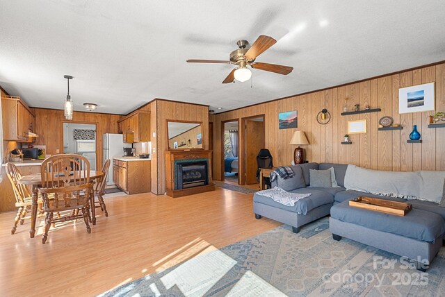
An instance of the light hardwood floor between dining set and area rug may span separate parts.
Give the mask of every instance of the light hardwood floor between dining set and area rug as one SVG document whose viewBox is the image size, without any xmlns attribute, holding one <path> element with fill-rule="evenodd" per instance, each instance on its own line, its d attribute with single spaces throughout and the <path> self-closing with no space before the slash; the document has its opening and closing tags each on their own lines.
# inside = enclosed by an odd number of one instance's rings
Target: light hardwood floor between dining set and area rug
<svg viewBox="0 0 445 297">
<path fill-rule="evenodd" d="M 182 198 L 137 194 L 106 198 L 91 234 L 83 221 L 10 235 L 15 212 L 0 214 L 0 296 L 93 296 L 221 248 L 280 223 L 254 219 L 252 194 L 216 188 Z"/>
</svg>

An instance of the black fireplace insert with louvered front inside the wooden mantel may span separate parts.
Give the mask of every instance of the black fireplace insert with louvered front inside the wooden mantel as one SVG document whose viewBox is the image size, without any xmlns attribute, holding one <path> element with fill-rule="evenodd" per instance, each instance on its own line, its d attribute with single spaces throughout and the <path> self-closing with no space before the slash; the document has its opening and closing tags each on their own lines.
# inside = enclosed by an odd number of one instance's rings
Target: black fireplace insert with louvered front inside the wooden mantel
<svg viewBox="0 0 445 297">
<path fill-rule="evenodd" d="M 209 185 L 207 161 L 177 162 L 177 189 Z"/>
</svg>

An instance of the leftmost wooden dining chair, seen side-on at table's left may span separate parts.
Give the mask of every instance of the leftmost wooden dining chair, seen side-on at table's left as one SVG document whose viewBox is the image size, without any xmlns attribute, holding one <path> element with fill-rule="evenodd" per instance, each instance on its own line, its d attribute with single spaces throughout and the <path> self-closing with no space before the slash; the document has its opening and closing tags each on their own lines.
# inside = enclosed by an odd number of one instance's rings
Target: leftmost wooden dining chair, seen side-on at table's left
<svg viewBox="0 0 445 297">
<path fill-rule="evenodd" d="M 25 219 L 31 219 L 31 216 L 26 217 L 29 212 L 29 207 L 32 204 L 31 192 L 29 192 L 26 185 L 17 183 L 17 180 L 22 178 L 22 173 L 13 163 L 6 163 L 6 175 L 13 186 L 14 196 L 15 196 L 15 207 L 18 207 L 17 215 L 15 216 L 14 226 L 11 229 L 11 235 L 17 230 L 17 225 L 20 221 L 20 225 L 23 225 Z M 38 199 L 39 212 L 38 215 L 42 216 L 42 198 Z"/>
</svg>

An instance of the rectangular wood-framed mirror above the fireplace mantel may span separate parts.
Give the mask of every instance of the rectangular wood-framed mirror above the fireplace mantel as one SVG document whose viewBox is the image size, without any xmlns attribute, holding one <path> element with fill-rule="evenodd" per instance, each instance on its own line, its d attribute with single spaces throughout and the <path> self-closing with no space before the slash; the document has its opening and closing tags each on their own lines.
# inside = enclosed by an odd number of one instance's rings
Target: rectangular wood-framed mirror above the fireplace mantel
<svg viewBox="0 0 445 297">
<path fill-rule="evenodd" d="M 202 149 L 202 122 L 200 121 L 167 121 L 168 149 Z"/>
</svg>

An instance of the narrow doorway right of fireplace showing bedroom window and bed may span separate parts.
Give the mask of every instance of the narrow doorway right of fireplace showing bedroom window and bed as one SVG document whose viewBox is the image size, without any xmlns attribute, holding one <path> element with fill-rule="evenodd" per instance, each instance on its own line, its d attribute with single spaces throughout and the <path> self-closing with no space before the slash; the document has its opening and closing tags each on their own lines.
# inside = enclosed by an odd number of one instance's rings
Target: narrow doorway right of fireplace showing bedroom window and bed
<svg viewBox="0 0 445 297">
<path fill-rule="evenodd" d="M 238 119 L 221 123 L 222 160 L 221 169 L 224 183 L 239 185 L 239 134 Z"/>
</svg>

